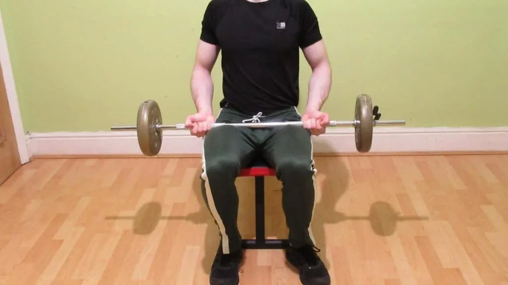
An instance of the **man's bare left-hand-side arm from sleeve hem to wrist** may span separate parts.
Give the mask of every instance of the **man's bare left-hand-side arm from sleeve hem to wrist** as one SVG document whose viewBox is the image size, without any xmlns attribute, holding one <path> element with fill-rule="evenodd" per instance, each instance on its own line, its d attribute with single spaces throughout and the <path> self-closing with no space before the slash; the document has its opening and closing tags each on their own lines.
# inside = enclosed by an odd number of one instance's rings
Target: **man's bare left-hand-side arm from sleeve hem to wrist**
<svg viewBox="0 0 508 285">
<path fill-rule="evenodd" d="M 219 48 L 203 40 L 199 41 L 196 61 L 190 80 L 190 89 L 198 113 L 213 114 L 213 81 L 211 72 L 217 60 Z"/>
</svg>

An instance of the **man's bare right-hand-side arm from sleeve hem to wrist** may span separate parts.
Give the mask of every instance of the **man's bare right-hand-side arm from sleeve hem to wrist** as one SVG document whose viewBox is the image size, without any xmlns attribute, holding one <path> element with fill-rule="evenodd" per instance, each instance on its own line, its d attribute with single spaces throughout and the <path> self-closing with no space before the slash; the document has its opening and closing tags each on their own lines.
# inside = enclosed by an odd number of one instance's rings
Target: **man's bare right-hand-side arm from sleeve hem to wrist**
<svg viewBox="0 0 508 285">
<path fill-rule="evenodd" d="M 306 112 L 320 111 L 332 84 L 332 70 L 323 40 L 303 49 L 303 54 L 312 69 Z"/>
</svg>

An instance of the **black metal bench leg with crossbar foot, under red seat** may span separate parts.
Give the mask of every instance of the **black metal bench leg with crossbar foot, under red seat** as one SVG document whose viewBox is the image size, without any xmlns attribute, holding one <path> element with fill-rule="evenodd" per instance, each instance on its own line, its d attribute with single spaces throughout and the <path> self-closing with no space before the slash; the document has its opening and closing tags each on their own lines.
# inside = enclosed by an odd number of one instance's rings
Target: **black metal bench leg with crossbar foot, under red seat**
<svg viewBox="0 0 508 285">
<path fill-rule="evenodd" d="M 281 249 L 289 245 L 287 239 L 265 239 L 265 177 L 255 177 L 256 239 L 242 240 L 246 249 Z"/>
</svg>

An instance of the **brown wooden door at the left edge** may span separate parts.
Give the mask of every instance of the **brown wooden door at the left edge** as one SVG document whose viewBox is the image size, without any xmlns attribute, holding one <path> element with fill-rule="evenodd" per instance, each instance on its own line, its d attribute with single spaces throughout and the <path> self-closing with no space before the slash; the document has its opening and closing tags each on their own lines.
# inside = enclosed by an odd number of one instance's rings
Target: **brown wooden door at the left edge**
<svg viewBox="0 0 508 285">
<path fill-rule="evenodd" d="M 14 125 L 7 100 L 4 74 L 0 66 L 0 184 L 4 183 L 21 166 Z"/>
</svg>

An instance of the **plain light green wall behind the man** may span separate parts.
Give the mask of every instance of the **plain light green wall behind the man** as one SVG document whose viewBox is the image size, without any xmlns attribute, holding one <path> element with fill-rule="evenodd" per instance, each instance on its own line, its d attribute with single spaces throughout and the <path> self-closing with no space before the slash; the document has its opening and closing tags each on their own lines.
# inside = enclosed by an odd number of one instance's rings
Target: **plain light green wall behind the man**
<svg viewBox="0 0 508 285">
<path fill-rule="evenodd" d="M 145 99 L 165 123 L 183 123 L 195 111 L 189 79 L 207 3 L 0 0 L 25 130 L 135 124 Z M 332 119 L 352 119 L 368 93 L 384 119 L 409 127 L 508 125 L 508 1 L 309 3 L 334 72 Z M 303 65 L 303 103 L 309 76 Z M 216 65 L 215 113 L 220 77 Z"/>
</svg>

